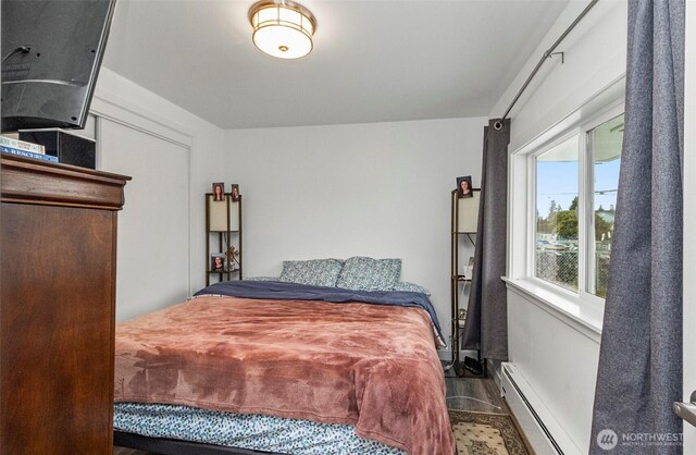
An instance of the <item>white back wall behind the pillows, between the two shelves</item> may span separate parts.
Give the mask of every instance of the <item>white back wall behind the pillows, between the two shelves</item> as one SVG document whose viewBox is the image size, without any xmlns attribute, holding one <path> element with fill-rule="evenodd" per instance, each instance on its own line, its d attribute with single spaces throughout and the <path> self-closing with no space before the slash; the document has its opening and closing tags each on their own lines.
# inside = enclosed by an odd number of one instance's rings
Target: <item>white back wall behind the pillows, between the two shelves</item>
<svg viewBox="0 0 696 455">
<path fill-rule="evenodd" d="M 480 185 L 486 123 L 227 131 L 226 174 L 245 201 L 245 275 L 277 276 L 287 259 L 402 258 L 402 280 L 432 291 L 447 328 L 450 192 L 461 175 Z"/>
</svg>

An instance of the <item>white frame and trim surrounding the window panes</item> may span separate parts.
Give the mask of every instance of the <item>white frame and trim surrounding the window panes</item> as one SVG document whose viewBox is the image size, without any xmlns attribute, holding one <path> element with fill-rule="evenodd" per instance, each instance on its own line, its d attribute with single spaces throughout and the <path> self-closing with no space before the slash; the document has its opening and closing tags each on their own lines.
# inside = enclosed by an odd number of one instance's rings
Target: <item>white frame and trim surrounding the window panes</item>
<svg viewBox="0 0 696 455">
<path fill-rule="evenodd" d="M 509 261 L 505 281 L 511 288 L 518 288 L 536 297 L 538 305 L 550 307 L 571 325 L 582 331 L 589 329 L 589 332 L 595 334 L 601 333 L 605 299 L 587 291 L 589 288 L 587 280 L 592 276 L 588 269 L 594 267 L 588 261 L 589 237 L 594 232 L 594 217 L 589 213 L 593 209 L 593 197 L 588 197 L 592 195 L 587 193 L 594 192 L 594 161 L 588 132 L 625 111 L 624 93 L 621 88 L 623 88 L 621 84 L 617 84 L 587 101 L 585 106 L 511 152 L 509 162 Z M 566 290 L 534 275 L 536 157 L 574 135 L 579 136 L 577 292 Z"/>
</svg>

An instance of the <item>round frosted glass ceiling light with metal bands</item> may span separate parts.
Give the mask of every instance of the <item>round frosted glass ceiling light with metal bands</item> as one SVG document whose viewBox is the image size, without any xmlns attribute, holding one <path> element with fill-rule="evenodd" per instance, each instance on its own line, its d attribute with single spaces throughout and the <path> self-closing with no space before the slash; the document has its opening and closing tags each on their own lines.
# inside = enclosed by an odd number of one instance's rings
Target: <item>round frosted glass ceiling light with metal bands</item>
<svg viewBox="0 0 696 455">
<path fill-rule="evenodd" d="M 312 51 L 314 15 L 288 0 L 262 0 L 249 9 L 253 44 L 278 59 L 299 59 Z"/>
</svg>

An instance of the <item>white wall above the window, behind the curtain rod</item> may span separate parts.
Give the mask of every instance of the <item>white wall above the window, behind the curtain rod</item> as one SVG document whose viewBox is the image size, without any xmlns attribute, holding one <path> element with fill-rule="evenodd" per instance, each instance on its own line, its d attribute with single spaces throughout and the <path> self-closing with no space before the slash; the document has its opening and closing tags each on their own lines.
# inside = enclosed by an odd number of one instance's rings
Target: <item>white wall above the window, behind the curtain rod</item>
<svg viewBox="0 0 696 455">
<path fill-rule="evenodd" d="M 571 1 L 490 112 L 505 112 L 544 52 L 586 7 Z M 560 44 L 512 109 L 510 151 L 517 150 L 560 119 L 577 110 L 597 91 L 625 74 L 626 2 L 598 2 Z"/>
</svg>

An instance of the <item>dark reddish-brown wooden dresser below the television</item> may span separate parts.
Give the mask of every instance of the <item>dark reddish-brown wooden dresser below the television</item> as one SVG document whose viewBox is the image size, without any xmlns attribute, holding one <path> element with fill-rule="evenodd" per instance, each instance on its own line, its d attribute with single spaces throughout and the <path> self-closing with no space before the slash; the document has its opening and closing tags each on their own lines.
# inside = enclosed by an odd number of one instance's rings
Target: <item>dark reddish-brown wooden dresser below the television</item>
<svg viewBox="0 0 696 455">
<path fill-rule="evenodd" d="M 129 177 L 1 157 L 0 454 L 111 454 Z"/>
</svg>

